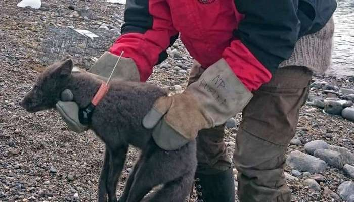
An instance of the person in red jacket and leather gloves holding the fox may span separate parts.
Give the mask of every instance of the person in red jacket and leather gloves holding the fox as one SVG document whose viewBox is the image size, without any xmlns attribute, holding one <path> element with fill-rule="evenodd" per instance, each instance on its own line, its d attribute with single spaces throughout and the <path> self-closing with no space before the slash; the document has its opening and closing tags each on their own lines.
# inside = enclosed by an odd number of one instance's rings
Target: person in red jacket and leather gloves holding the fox
<svg viewBox="0 0 354 202">
<path fill-rule="evenodd" d="M 127 0 L 121 36 L 90 72 L 108 77 L 124 51 L 115 78 L 145 82 L 180 35 L 195 59 L 188 87 L 159 98 L 143 126 L 165 150 L 196 138 L 198 201 L 235 201 L 234 163 L 241 202 L 290 202 L 285 153 L 312 74 L 330 65 L 335 9 L 335 0 Z M 86 129 L 60 108 L 72 130 Z M 241 111 L 232 161 L 224 126 Z"/>
</svg>

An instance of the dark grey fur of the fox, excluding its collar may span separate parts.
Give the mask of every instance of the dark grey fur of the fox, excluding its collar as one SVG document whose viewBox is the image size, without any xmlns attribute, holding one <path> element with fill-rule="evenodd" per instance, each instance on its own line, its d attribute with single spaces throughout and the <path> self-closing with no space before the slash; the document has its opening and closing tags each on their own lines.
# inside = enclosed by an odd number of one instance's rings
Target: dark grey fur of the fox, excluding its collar
<svg viewBox="0 0 354 202">
<path fill-rule="evenodd" d="M 54 108 L 64 89 L 70 89 L 80 108 L 91 102 L 101 81 L 86 72 L 71 73 L 72 60 L 63 59 L 42 72 L 20 105 L 28 112 Z M 197 166 L 196 143 L 179 150 L 165 151 L 152 139 L 152 131 L 142 126 L 142 119 L 154 101 L 166 93 L 159 87 L 138 82 L 112 80 L 109 91 L 97 105 L 90 128 L 106 144 L 98 201 L 116 202 L 116 187 L 128 145 L 142 150 L 129 175 L 120 202 L 182 202 L 192 188 Z M 154 194 L 144 196 L 155 186 Z M 144 198 L 144 199 L 143 199 Z"/>
</svg>

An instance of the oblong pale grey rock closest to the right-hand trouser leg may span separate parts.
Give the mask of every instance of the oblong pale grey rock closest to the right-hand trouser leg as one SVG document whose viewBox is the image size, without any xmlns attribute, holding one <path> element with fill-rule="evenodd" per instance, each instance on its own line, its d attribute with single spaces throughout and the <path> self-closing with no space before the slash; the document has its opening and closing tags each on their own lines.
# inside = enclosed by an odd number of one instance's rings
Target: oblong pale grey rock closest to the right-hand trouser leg
<svg viewBox="0 0 354 202">
<path fill-rule="evenodd" d="M 310 173 L 322 173 L 327 168 L 326 162 L 297 150 L 289 154 L 286 164 L 293 169 Z"/>
</svg>

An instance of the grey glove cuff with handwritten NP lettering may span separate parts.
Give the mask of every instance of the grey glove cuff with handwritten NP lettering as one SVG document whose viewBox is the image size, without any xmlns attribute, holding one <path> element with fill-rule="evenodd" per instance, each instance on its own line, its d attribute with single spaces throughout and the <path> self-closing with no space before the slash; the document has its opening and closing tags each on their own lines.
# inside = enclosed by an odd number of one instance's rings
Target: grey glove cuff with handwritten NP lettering
<svg viewBox="0 0 354 202">
<path fill-rule="evenodd" d="M 253 96 L 225 59 L 220 59 L 208 67 L 198 81 L 189 85 L 186 90 L 203 106 L 213 122 L 213 127 L 235 116 Z"/>
</svg>

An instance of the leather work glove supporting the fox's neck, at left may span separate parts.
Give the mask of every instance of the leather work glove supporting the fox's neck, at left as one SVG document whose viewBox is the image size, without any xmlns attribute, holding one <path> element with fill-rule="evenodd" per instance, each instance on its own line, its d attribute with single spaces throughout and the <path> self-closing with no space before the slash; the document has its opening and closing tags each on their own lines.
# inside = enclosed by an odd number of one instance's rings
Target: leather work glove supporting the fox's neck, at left
<svg viewBox="0 0 354 202">
<path fill-rule="evenodd" d="M 92 73 L 94 77 L 106 81 L 118 58 L 119 56 L 117 55 L 105 52 L 90 68 L 89 73 Z M 79 73 L 81 71 L 78 68 L 74 68 L 72 73 Z M 140 81 L 137 65 L 131 58 L 124 57 L 120 58 L 112 77 L 123 81 Z M 61 94 L 61 101 L 58 101 L 56 104 L 56 109 L 72 131 L 81 133 L 86 131 L 88 127 L 80 123 L 78 115 L 79 107 L 72 101 L 73 98 L 70 90 L 64 90 Z"/>
</svg>

